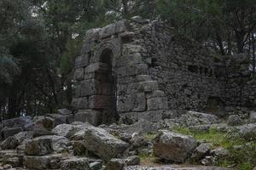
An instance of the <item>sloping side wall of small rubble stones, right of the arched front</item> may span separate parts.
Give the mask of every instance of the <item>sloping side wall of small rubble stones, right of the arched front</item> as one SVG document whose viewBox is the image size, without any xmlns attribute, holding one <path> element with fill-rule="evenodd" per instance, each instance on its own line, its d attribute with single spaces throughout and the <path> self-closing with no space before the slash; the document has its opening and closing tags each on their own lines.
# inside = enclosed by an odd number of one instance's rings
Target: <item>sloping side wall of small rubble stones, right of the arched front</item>
<svg viewBox="0 0 256 170">
<path fill-rule="evenodd" d="M 197 42 L 175 34 L 160 22 L 144 27 L 143 59 L 150 76 L 166 92 L 170 109 L 200 111 L 210 98 L 222 98 L 223 82 L 213 58 Z"/>
</svg>

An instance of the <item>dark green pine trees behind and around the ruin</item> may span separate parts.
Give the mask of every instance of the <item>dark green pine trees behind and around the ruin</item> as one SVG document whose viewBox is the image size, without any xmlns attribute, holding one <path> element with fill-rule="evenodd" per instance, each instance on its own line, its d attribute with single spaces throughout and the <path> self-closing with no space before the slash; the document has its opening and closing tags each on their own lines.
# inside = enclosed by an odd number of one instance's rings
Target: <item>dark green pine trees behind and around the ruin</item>
<svg viewBox="0 0 256 170">
<path fill-rule="evenodd" d="M 85 31 L 134 15 L 164 20 L 212 53 L 245 53 L 255 71 L 255 0 L 0 0 L 1 119 L 68 108 Z"/>
</svg>

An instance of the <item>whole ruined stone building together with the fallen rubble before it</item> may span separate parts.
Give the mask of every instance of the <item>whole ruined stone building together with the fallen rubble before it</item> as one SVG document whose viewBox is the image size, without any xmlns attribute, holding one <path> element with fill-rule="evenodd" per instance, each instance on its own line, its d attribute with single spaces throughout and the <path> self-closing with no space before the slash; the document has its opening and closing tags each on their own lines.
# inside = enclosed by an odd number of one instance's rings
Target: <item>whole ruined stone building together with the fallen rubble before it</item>
<svg viewBox="0 0 256 170">
<path fill-rule="evenodd" d="M 1 122 L 0 170 L 228 170 L 234 160 L 214 166 L 236 151 L 255 167 L 256 82 L 244 55 L 213 56 L 140 17 L 86 34 L 73 111 Z"/>
</svg>

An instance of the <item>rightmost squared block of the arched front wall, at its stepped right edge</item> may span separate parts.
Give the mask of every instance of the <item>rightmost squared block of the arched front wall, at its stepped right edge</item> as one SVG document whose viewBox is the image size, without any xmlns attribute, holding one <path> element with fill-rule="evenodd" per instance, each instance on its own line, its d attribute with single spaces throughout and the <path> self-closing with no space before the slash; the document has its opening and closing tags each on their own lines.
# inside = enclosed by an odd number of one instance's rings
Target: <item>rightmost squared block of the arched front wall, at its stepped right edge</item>
<svg viewBox="0 0 256 170">
<path fill-rule="evenodd" d="M 147 106 L 148 111 L 168 109 L 168 103 L 165 97 L 147 99 Z"/>
</svg>

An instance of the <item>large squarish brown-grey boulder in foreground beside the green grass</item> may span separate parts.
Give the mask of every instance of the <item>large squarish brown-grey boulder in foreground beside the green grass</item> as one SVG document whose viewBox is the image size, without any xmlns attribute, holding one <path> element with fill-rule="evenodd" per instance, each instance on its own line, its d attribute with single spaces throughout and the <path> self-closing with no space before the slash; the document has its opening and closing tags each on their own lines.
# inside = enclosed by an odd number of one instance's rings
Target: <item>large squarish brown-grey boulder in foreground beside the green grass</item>
<svg viewBox="0 0 256 170">
<path fill-rule="evenodd" d="M 162 130 L 153 140 L 154 155 L 166 161 L 184 162 L 195 150 L 196 140 L 191 136 Z"/>
</svg>

